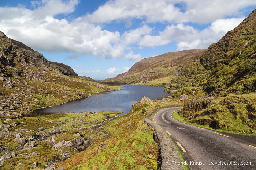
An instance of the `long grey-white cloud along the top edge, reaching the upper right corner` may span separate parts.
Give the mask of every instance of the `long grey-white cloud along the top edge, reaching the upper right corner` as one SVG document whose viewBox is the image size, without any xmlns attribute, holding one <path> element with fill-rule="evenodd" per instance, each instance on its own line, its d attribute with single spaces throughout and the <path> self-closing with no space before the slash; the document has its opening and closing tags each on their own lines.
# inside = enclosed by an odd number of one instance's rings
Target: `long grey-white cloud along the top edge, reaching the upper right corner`
<svg viewBox="0 0 256 170">
<path fill-rule="evenodd" d="M 182 3 L 181 3 L 182 2 Z M 182 4 L 181 8 L 175 4 Z M 240 15 L 239 10 L 256 5 L 254 0 L 113 0 L 100 6 L 86 20 L 96 23 L 110 23 L 114 20 L 130 22 L 130 18 L 152 22 L 197 22 L 209 23 L 216 19 Z M 185 12 L 183 10 L 186 9 Z"/>
</svg>

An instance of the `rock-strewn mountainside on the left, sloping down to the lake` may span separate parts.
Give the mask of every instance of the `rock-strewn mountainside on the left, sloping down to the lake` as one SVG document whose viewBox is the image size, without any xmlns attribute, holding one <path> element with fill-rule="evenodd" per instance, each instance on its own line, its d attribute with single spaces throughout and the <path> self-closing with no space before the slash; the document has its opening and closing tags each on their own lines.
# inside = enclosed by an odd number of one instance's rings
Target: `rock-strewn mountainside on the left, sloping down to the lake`
<svg viewBox="0 0 256 170">
<path fill-rule="evenodd" d="M 50 62 L 22 42 L 0 31 L 0 116 L 22 116 L 32 110 L 109 91 L 114 87 L 78 76 L 71 67 Z"/>
</svg>

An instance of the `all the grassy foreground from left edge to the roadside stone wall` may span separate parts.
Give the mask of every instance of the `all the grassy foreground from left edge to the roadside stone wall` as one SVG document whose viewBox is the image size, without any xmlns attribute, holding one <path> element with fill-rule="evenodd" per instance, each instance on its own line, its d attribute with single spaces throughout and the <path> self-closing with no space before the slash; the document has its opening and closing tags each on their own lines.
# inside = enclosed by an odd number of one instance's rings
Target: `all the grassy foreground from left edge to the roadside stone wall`
<svg viewBox="0 0 256 170">
<path fill-rule="evenodd" d="M 55 166 L 62 166 L 64 169 L 148 169 L 156 170 L 158 147 L 159 145 L 153 139 L 153 129 L 144 123 L 144 117 L 147 112 L 157 107 L 157 103 L 138 102 L 134 104 L 133 109 L 126 115 L 117 116 L 120 112 L 98 112 L 98 113 L 58 113 L 38 117 L 24 117 L 16 119 L 18 125 L 11 127 L 15 129 L 25 128 L 33 130 L 25 134 L 26 136 L 43 135 L 47 132 L 56 132 L 56 128 L 64 130 L 62 134 L 53 134 L 47 139 L 56 136 L 55 141 L 73 140 L 79 136 L 73 136 L 79 133 L 80 138 L 90 140 L 91 145 L 86 150 L 74 152 L 74 148 L 61 148 L 62 152 L 51 150 L 45 141 L 38 141 L 32 150 L 17 150 L 20 145 L 13 142 L 14 137 L 0 139 L 2 145 L 8 146 L 16 154 L 31 154 L 37 152 L 38 155 L 25 159 L 25 156 L 14 157 L 5 160 L 1 169 L 31 169 L 33 162 L 38 162 L 38 169 L 49 165 L 52 159 L 59 160 L 60 154 L 65 151 L 73 151 L 70 159 L 63 162 L 57 162 Z M 140 108 L 140 109 L 136 109 Z M 1 121 L 3 124 L 8 123 Z M 44 127 L 43 131 L 38 131 L 39 127 Z M 1 156 L 2 154 L 0 154 Z M 18 165 L 18 162 L 22 164 Z"/>
</svg>

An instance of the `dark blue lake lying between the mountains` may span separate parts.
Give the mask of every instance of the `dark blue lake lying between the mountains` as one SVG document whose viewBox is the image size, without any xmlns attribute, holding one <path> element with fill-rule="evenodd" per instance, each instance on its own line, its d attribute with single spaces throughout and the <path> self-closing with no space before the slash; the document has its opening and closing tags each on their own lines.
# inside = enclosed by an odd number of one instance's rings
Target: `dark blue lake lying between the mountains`
<svg viewBox="0 0 256 170">
<path fill-rule="evenodd" d="M 54 113 L 80 113 L 100 111 L 120 111 L 120 115 L 130 112 L 132 105 L 140 101 L 143 96 L 152 100 L 168 97 L 164 87 L 122 85 L 122 90 L 93 94 L 91 97 L 69 101 L 55 107 L 35 110 L 31 116 L 49 115 Z"/>
</svg>

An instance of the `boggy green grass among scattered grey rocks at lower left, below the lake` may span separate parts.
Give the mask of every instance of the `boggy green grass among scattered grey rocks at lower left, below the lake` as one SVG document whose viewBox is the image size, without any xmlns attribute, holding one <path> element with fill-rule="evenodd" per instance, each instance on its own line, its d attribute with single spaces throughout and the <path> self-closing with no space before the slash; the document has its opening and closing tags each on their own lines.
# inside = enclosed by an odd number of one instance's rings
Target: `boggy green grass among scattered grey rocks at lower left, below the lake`
<svg viewBox="0 0 256 170">
<path fill-rule="evenodd" d="M 110 119 L 114 119 L 120 112 L 98 112 L 98 113 L 58 113 L 52 115 L 44 115 L 38 117 L 24 117 L 22 119 L 16 119 L 15 121 L 18 122 L 18 125 L 15 127 L 11 127 L 9 130 L 15 131 L 15 129 L 29 129 L 33 130 L 33 132 L 28 132 L 23 135 L 26 136 L 33 136 L 38 135 L 41 136 L 46 132 L 57 132 L 56 127 L 60 128 L 60 130 L 67 130 L 61 134 L 53 134 L 56 136 L 57 139 L 55 143 L 62 141 L 62 140 L 74 140 L 75 138 L 83 137 L 85 140 L 90 138 L 91 142 L 94 140 L 104 140 L 109 135 L 108 132 L 104 131 L 101 127 L 95 127 L 97 125 L 96 119 L 99 119 L 99 122 L 109 123 L 111 122 Z M 103 120 L 104 119 L 104 120 Z M 12 123 L 13 121 L 10 120 L 8 123 Z M 62 122 L 62 123 L 60 123 Z M 8 123 L 5 123 L 7 125 Z M 39 127 L 44 127 L 43 131 L 38 132 Z M 73 136 L 74 133 L 80 133 L 80 136 Z M 49 136 L 48 139 L 51 139 L 53 136 Z M 31 154 L 32 152 L 37 152 L 38 155 L 34 157 L 30 157 L 29 159 L 25 159 L 25 156 L 21 157 L 14 157 L 11 159 L 5 160 L 4 166 L 1 166 L 0 169 L 7 170 L 7 169 L 31 169 L 31 165 L 33 162 L 38 162 L 38 169 L 43 169 L 44 165 L 48 165 L 49 162 L 52 162 L 52 159 L 59 160 L 61 158 L 60 154 L 57 151 L 51 150 L 51 146 L 45 144 L 45 141 L 38 141 L 36 142 L 33 149 L 24 151 L 17 149 L 20 147 L 19 142 L 13 142 L 15 137 L 10 138 L 1 138 L 0 142 L 2 145 L 7 146 L 10 151 L 15 152 L 16 154 Z M 62 152 L 65 151 L 73 151 L 74 148 L 62 148 Z M 72 152 L 70 155 L 76 154 L 77 152 Z M 2 152 L 0 154 L 3 155 Z M 18 165 L 18 162 L 23 162 L 24 165 Z"/>
</svg>

